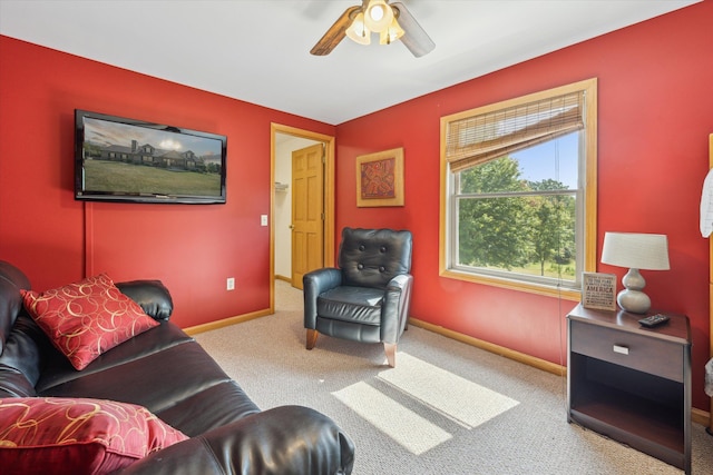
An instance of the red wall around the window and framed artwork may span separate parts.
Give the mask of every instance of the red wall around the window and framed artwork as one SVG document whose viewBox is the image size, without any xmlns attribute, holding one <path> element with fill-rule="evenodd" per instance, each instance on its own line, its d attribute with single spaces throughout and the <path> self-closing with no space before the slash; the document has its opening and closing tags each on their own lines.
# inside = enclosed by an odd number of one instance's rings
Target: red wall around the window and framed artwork
<svg viewBox="0 0 713 475">
<path fill-rule="evenodd" d="M 607 230 L 668 235 L 671 270 L 644 276 L 656 307 L 691 318 L 694 405 L 707 410 L 709 240 L 699 204 L 713 132 L 711 24 L 713 2 L 699 3 L 338 126 L 338 228 L 412 230 L 413 317 L 565 363 L 564 317 L 576 303 L 439 277 L 439 119 L 598 78 L 598 243 Z M 356 208 L 355 157 L 395 147 L 406 152 L 406 206 Z"/>
</svg>

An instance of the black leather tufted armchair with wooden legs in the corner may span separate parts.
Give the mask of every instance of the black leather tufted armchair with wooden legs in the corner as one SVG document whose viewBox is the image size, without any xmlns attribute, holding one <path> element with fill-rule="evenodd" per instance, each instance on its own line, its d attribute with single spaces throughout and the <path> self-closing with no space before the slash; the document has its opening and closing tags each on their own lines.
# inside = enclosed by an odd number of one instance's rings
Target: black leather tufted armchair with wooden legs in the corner
<svg viewBox="0 0 713 475">
<path fill-rule="evenodd" d="M 314 347 L 319 334 L 383 343 L 394 367 L 411 301 L 411 247 L 408 230 L 344 228 L 339 268 L 303 278 L 306 348 Z"/>
</svg>

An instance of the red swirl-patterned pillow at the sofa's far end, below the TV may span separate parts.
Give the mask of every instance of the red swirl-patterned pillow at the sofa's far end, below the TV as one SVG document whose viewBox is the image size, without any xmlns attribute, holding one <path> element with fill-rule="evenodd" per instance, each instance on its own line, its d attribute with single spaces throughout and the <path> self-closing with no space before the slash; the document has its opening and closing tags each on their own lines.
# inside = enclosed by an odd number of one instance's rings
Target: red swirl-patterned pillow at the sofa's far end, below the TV
<svg viewBox="0 0 713 475">
<path fill-rule="evenodd" d="M 42 294 L 21 293 L 35 321 L 78 370 L 106 350 L 159 325 L 106 274 Z"/>
</svg>

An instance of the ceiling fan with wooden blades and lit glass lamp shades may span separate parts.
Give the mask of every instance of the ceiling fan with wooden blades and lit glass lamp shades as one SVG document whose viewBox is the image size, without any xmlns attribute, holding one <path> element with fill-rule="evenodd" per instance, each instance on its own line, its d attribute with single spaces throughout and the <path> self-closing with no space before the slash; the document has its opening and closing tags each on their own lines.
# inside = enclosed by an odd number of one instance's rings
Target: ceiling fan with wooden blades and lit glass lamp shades
<svg viewBox="0 0 713 475">
<path fill-rule="evenodd" d="M 390 44 L 400 39 L 417 58 L 436 48 L 433 40 L 403 3 L 362 0 L 361 6 L 348 8 L 310 52 L 315 56 L 329 55 L 344 37 L 360 44 L 369 44 L 371 33 L 379 33 L 381 44 Z"/>
</svg>

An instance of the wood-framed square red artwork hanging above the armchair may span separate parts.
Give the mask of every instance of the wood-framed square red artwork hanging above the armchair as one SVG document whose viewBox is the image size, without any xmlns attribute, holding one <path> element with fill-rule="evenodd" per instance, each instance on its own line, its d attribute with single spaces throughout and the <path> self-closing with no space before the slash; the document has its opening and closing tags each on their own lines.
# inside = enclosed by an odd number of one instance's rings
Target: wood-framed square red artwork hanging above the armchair
<svg viewBox="0 0 713 475">
<path fill-rule="evenodd" d="M 356 206 L 403 206 L 403 148 L 356 157 Z"/>
</svg>

